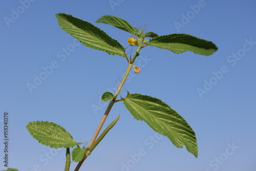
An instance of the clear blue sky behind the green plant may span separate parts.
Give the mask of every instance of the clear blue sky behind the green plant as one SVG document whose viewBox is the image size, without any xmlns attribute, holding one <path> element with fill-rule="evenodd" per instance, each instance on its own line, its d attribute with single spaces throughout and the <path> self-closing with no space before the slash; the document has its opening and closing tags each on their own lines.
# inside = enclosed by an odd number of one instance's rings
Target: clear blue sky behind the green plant
<svg viewBox="0 0 256 171">
<path fill-rule="evenodd" d="M 96 24 L 99 17 L 115 15 L 158 35 L 191 34 L 219 48 L 206 57 L 146 47 L 135 61 L 141 72 L 131 73 L 124 85 L 130 93 L 163 100 L 184 117 L 196 133 L 198 158 L 135 120 L 119 102 L 106 124 L 118 115 L 119 121 L 81 170 L 255 170 L 255 5 L 252 0 L 2 1 L 0 135 L 3 143 L 8 112 L 9 166 L 63 170 L 65 149 L 41 145 L 25 126 L 55 122 L 75 141 L 90 141 L 108 104 L 99 97 L 113 91 L 126 70 L 125 58 L 79 45 L 61 30 L 55 14 L 67 13 L 104 30 L 123 47 L 132 35 Z M 35 85 L 40 76 L 44 80 Z M 30 90 L 28 83 L 36 88 Z"/>
</svg>

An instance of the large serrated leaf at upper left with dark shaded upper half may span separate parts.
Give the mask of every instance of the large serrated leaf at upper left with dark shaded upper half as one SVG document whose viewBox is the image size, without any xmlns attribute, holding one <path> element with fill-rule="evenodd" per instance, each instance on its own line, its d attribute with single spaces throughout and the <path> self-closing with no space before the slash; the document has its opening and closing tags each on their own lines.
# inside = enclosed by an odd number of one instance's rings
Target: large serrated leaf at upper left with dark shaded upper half
<svg viewBox="0 0 256 171">
<path fill-rule="evenodd" d="M 125 49 L 117 40 L 91 23 L 64 13 L 58 13 L 56 17 L 60 28 L 78 39 L 83 45 L 111 55 L 125 56 Z"/>
</svg>

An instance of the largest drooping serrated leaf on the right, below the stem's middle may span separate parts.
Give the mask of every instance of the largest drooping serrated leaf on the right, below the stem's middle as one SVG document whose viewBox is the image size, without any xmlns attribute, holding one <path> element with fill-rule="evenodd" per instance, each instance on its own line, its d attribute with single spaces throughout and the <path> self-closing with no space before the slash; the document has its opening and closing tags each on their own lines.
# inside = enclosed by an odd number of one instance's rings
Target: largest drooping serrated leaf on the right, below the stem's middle
<svg viewBox="0 0 256 171">
<path fill-rule="evenodd" d="M 135 119 L 145 121 L 154 131 L 167 136 L 178 148 L 185 145 L 188 152 L 198 156 L 195 132 L 185 119 L 166 103 L 141 94 L 130 94 L 122 100 Z"/>
</svg>

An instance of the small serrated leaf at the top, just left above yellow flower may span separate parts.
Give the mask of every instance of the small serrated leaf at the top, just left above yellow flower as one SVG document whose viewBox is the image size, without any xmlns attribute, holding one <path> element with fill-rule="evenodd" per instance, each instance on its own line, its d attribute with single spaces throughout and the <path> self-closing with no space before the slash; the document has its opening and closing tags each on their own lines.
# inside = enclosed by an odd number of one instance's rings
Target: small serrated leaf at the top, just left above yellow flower
<svg viewBox="0 0 256 171">
<path fill-rule="evenodd" d="M 105 23 L 105 24 L 109 24 L 111 26 L 114 26 L 118 29 L 124 30 L 126 32 L 132 33 L 132 34 L 136 34 L 136 29 L 134 27 L 132 27 L 126 20 L 116 17 L 116 16 L 112 16 L 112 15 L 104 15 L 102 17 L 100 17 L 96 23 Z"/>
</svg>

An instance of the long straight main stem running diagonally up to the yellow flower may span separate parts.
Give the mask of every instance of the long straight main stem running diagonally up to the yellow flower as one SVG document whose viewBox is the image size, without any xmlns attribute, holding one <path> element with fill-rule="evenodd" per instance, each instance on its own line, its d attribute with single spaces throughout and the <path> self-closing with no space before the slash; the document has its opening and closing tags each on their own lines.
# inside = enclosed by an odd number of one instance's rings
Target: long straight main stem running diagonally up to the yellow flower
<svg viewBox="0 0 256 171">
<path fill-rule="evenodd" d="M 88 145 L 88 148 L 90 148 L 92 146 L 92 144 L 95 142 L 97 136 L 99 135 L 99 132 L 100 132 L 100 130 L 101 130 L 105 120 L 106 120 L 106 117 L 108 117 L 108 115 L 109 115 L 109 113 L 110 113 L 114 103 L 116 102 L 115 100 L 116 100 L 117 96 L 119 95 L 119 93 L 120 93 L 120 91 L 121 91 L 121 89 L 123 87 L 123 84 L 124 84 L 127 76 L 129 75 L 132 67 L 133 67 L 133 63 L 135 61 L 135 58 L 138 56 L 140 49 L 141 49 L 141 47 L 137 48 L 137 50 L 136 50 L 132 60 L 130 61 L 129 65 L 128 65 L 126 71 L 125 71 L 125 74 L 124 74 L 124 76 L 123 76 L 123 78 L 122 78 L 122 80 L 121 80 L 121 82 L 120 82 L 120 84 L 119 84 L 119 86 L 118 86 L 118 88 L 116 90 L 116 93 L 114 94 L 114 98 L 110 101 L 110 103 L 108 105 L 108 108 L 106 108 L 106 111 L 105 111 L 105 113 L 104 113 L 104 115 L 103 115 L 103 117 L 102 117 L 102 119 L 101 119 L 101 121 L 100 121 L 100 123 L 99 123 L 99 125 L 97 127 L 97 130 L 95 131 L 95 133 L 93 135 L 93 138 L 92 138 L 90 144 Z M 77 166 L 76 166 L 74 171 L 78 171 L 79 170 L 79 168 L 81 167 L 81 165 L 84 162 L 84 160 L 86 160 L 86 158 L 88 157 L 87 154 L 90 154 L 90 151 L 88 153 L 84 154 L 83 159 L 80 162 L 78 162 L 78 164 L 77 164 Z"/>
</svg>

